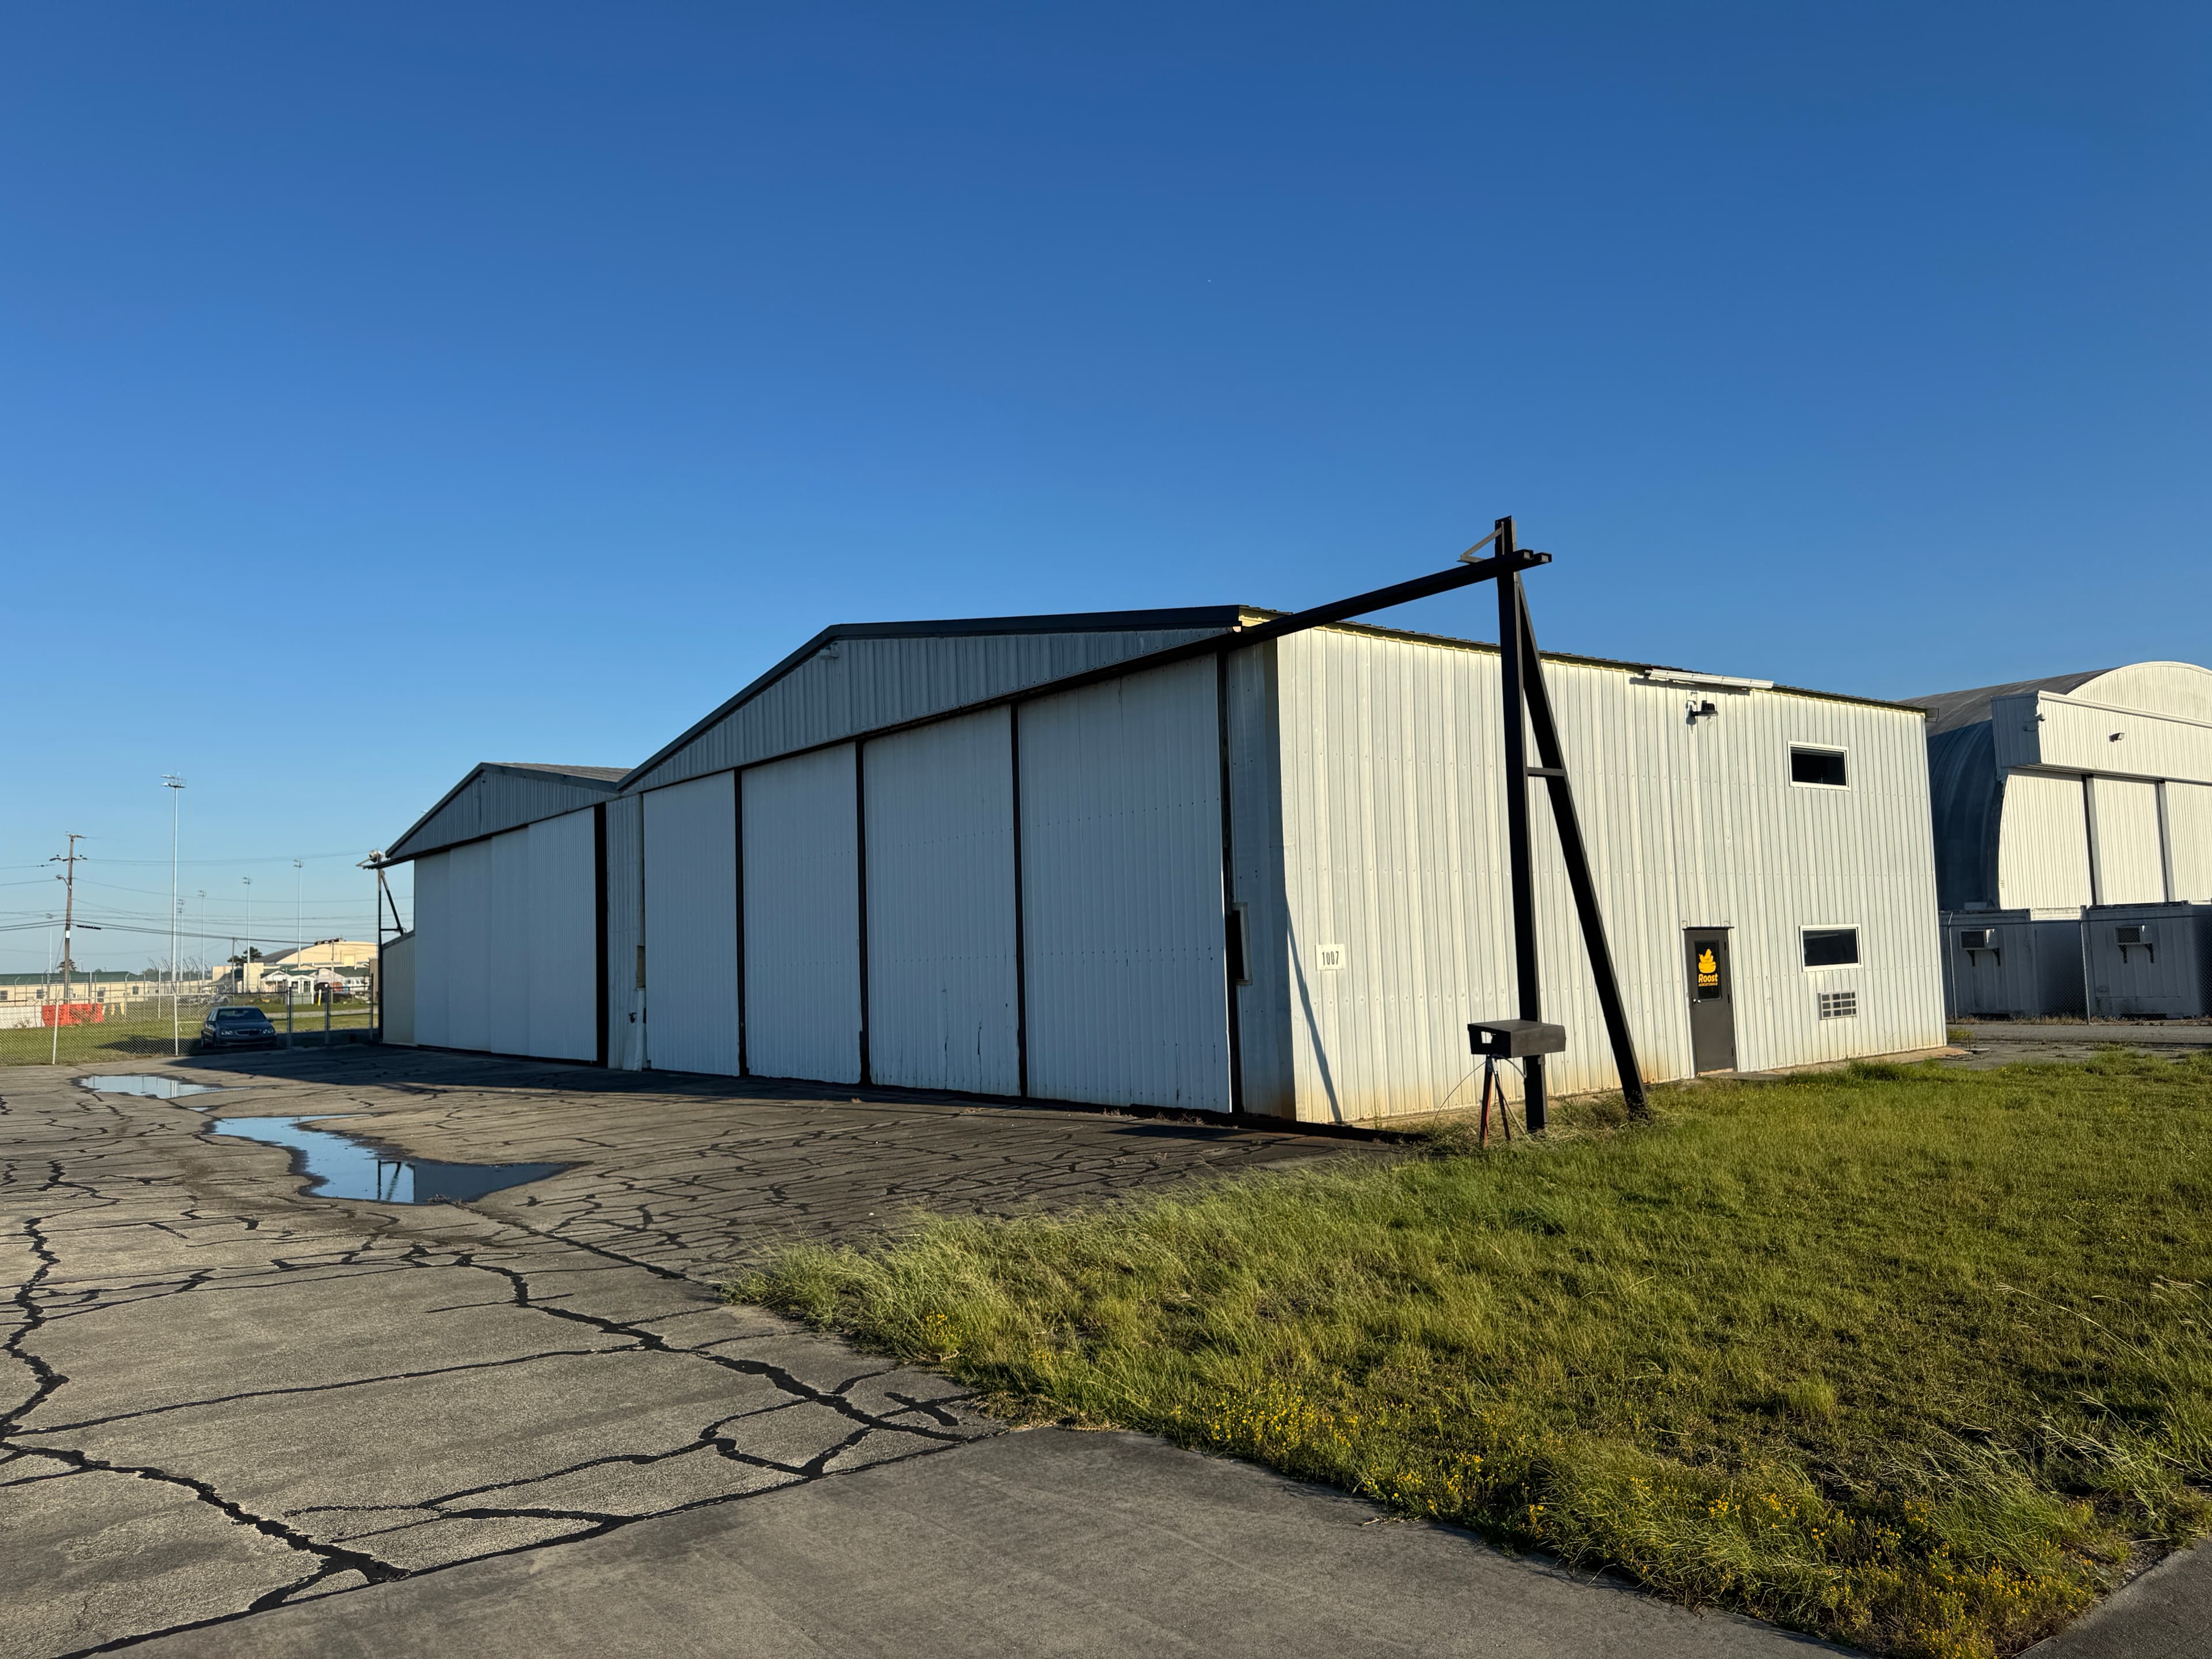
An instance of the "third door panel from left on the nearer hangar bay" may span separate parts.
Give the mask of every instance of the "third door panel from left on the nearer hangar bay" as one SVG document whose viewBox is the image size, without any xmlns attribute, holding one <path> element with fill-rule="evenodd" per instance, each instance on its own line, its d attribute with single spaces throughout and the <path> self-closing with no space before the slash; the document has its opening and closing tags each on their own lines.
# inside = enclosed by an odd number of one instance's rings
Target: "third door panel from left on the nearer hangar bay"
<svg viewBox="0 0 2212 1659">
<path fill-rule="evenodd" d="M 869 1075 L 1013 1095 L 1011 710 L 883 737 L 863 754 Z"/>
</svg>

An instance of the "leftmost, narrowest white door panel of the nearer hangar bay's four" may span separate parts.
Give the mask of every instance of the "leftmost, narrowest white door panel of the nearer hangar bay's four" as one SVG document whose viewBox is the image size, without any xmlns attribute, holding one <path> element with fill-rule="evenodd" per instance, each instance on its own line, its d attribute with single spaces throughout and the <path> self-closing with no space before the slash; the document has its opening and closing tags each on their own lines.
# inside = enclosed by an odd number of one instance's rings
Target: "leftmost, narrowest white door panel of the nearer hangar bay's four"
<svg viewBox="0 0 2212 1659">
<path fill-rule="evenodd" d="M 737 787 L 646 794 L 646 1064 L 737 1075 Z"/>
</svg>

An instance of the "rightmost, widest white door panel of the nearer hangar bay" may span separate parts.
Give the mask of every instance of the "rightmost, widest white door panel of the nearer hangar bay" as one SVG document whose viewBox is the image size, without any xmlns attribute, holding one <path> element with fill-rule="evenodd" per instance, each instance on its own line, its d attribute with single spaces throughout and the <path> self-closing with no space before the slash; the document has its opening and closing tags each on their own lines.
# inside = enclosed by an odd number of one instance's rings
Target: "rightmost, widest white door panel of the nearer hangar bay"
<svg viewBox="0 0 2212 1659">
<path fill-rule="evenodd" d="M 1228 1110 L 1221 900 L 1212 659 L 1022 708 L 1029 1093 Z"/>
</svg>

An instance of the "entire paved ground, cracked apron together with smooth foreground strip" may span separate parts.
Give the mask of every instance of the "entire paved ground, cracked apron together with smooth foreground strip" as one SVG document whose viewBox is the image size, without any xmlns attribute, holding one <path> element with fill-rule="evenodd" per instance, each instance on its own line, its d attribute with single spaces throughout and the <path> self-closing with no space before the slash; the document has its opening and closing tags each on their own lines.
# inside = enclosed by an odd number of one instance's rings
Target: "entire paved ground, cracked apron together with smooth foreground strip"
<svg viewBox="0 0 2212 1659">
<path fill-rule="evenodd" d="M 1816 1646 L 1144 1436 L 1009 1436 L 714 1290 L 916 1203 L 1387 1148 L 369 1046 L 157 1068 L 223 1093 L 0 1071 L 0 1655 Z M 568 1168 L 321 1199 L 212 1115 Z"/>
</svg>

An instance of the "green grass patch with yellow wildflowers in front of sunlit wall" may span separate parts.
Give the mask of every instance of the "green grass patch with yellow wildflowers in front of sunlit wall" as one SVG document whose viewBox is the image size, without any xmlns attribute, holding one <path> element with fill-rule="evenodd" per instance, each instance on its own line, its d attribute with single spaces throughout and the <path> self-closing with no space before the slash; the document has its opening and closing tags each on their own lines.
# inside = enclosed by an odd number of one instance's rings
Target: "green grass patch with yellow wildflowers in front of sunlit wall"
<svg viewBox="0 0 2212 1659">
<path fill-rule="evenodd" d="M 2208 1526 L 2212 1057 L 1655 1113 L 920 1219 L 732 1296 L 1878 1652 L 2017 1652 Z"/>
</svg>

